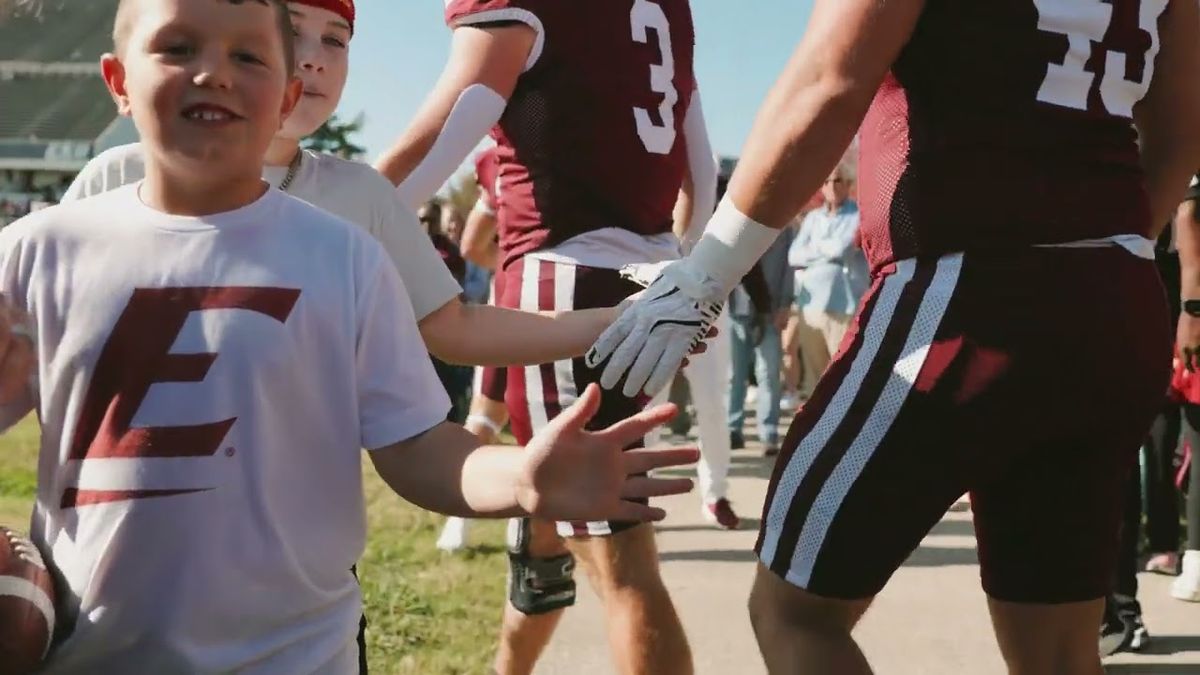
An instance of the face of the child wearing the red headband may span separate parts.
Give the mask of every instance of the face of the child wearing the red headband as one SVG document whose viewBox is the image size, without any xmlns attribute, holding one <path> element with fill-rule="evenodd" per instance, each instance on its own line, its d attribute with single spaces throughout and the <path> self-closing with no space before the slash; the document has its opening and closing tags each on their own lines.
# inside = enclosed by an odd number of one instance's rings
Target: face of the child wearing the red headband
<svg viewBox="0 0 1200 675">
<path fill-rule="evenodd" d="M 296 77 L 304 95 L 283 124 L 283 138 L 300 139 L 334 115 L 349 71 L 350 25 L 341 16 L 302 2 L 290 2 Z"/>
</svg>

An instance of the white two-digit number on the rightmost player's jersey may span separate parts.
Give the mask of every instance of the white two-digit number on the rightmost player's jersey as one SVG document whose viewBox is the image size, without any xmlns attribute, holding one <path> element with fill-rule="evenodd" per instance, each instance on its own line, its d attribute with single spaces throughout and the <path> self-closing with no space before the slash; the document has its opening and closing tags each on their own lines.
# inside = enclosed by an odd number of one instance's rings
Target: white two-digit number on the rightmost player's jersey
<svg viewBox="0 0 1200 675">
<path fill-rule="evenodd" d="M 1104 77 L 1100 79 L 1100 101 L 1111 115 L 1133 118 L 1133 107 L 1146 95 L 1154 76 L 1158 55 L 1158 17 L 1169 0 L 1141 0 L 1138 28 L 1150 35 L 1145 67 L 1136 82 L 1126 79 L 1129 55 L 1105 49 Z M 1092 55 L 1093 43 L 1104 43 L 1112 24 L 1112 5 L 1102 0 L 1033 0 L 1038 8 L 1038 29 L 1066 35 L 1069 48 L 1062 65 L 1050 64 L 1038 90 L 1038 101 L 1087 109 L 1087 97 L 1096 84 L 1096 73 L 1084 66 Z"/>
</svg>

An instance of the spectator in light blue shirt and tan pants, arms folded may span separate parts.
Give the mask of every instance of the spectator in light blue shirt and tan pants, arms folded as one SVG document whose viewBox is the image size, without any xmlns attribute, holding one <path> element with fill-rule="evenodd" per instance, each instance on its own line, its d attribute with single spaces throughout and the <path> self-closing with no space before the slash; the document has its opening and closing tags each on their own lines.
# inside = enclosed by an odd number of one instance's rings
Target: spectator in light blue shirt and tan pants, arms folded
<svg viewBox="0 0 1200 675">
<path fill-rule="evenodd" d="M 796 305 L 800 322 L 796 342 L 805 377 L 820 377 L 838 352 L 858 300 L 866 292 L 866 258 L 854 245 L 858 204 L 850 199 L 853 175 L 845 162 L 821 189 L 824 204 L 800 223 L 787 259 L 798 270 Z"/>
</svg>

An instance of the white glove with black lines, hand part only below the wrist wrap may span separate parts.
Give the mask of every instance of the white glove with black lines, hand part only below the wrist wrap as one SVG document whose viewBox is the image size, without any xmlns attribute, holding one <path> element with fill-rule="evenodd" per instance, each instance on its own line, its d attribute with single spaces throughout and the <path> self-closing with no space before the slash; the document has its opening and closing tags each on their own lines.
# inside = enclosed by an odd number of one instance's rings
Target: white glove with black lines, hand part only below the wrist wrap
<svg viewBox="0 0 1200 675">
<path fill-rule="evenodd" d="M 654 395 L 674 377 L 721 315 L 728 293 L 718 283 L 696 279 L 684 261 L 625 265 L 620 275 L 647 289 L 600 335 L 584 357 L 598 368 L 611 357 L 600 386 L 612 389 L 628 371 L 622 393 Z"/>
</svg>

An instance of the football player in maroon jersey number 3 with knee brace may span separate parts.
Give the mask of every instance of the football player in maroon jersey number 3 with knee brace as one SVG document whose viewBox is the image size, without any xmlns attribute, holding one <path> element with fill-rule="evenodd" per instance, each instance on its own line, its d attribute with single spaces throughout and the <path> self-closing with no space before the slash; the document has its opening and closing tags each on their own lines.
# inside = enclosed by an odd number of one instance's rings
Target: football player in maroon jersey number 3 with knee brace
<svg viewBox="0 0 1200 675">
<path fill-rule="evenodd" d="M 686 0 L 451 0 L 445 18 L 450 60 L 377 168 L 418 203 L 490 133 L 499 157 L 502 306 L 600 307 L 640 291 L 619 270 L 679 256 L 672 208 L 685 177 L 700 223 L 715 202 Z M 707 309 L 706 325 L 716 318 Z M 598 378 L 583 359 L 510 369 L 517 441 Z M 608 393 L 600 417 L 644 402 Z M 499 673 L 530 671 L 574 603 L 571 554 L 604 598 L 619 671 L 691 671 L 653 528 L 559 522 L 556 533 L 553 524 L 526 521 L 516 534 Z"/>
</svg>

